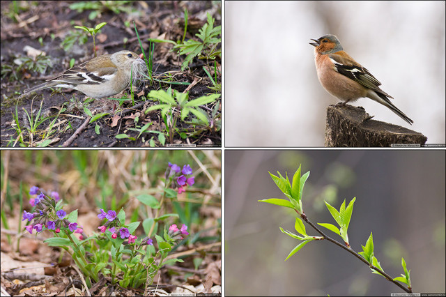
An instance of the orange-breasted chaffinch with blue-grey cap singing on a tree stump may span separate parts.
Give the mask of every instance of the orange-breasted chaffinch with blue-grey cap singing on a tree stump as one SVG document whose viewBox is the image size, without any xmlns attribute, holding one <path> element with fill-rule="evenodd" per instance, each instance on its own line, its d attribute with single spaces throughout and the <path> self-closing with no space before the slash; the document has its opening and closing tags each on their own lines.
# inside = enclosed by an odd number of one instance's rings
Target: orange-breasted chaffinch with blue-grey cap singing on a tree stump
<svg viewBox="0 0 446 297">
<path fill-rule="evenodd" d="M 319 82 L 328 93 L 344 101 L 341 105 L 367 97 L 388 107 L 412 125 L 413 121 L 390 102 L 389 98 L 393 97 L 379 88 L 381 83 L 378 79 L 344 52 L 336 36 L 329 34 L 312 40 L 315 43 L 309 44 L 315 47 L 314 63 Z"/>
</svg>

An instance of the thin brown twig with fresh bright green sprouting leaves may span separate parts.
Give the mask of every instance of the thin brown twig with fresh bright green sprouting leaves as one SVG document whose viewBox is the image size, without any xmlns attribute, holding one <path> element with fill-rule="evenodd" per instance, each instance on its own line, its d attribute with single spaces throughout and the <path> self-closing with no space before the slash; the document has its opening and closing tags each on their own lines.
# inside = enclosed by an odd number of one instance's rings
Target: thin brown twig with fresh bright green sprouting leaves
<svg viewBox="0 0 446 297">
<path fill-rule="evenodd" d="M 338 241 L 335 241 L 334 239 L 330 238 L 327 234 L 323 233 L 316 225 L 314 225 L 308 218 L 307 215 L 305 215 L 303 208 L 302 208 L 302 190 L 305 185 L 305 181 L 307 181 L 307 178 L 309 176 L 309 172 L 304 174 L 303 176 L 300 176 L 300 166 L 298 170 L 296 170 L 294 176 L 293 176 L 293 183 L 290 183 L 288 174 L 285 172 L 285 177 L 280 174 L 280 172 L 277 172 L 279 176 L 275 176 L 274 174 L 271 174 L 272 180 L 276 183 L 277 187 L 284 193 L 286 197 L 288 197 L 289 200 L 285 199 L 263 199 L 259 200 L 261 202 L 266 202 L 270 204 L 275 204 L 278 206 L 284 206 L 293 208 L 296 213 L 298 213 L 298 217 L 295 218 L 295 224 L 294 228 L 300 235 L 293 234 L 290 231 L 280 228 L 280 231 L 282 231 L 284 234 L 288 234 L 292 238 L 297 239 L 298 241 L 301 241 L 298 245 L 291 250 L 288 257 L 286 257 L 285 261 L 289 259 L 293 254 L 298 252 L 301 248 L 303 248 L 307 243 L 310 241 L 321 241 L 321 240 L 327 240 L 335 245 L 338 245 L 339 247 L 343 248 L 347 252 L 350 252 L 353 254 L 357 259 L 360 259 L 364 264 L 367 264 L 367 266 L 370 267 L 372 273 L 376 273 L 378 275 L 381 275 L 385 277 L 386 280 L 393 282 L 398 287 L 403 289 L 404 291 L 408 293 L 412 293 L 412 286 L 410 284 L 410 270 L 408 271 L 406 267 L 406 261 L 404 261 L 404 258 L 401 258 L 401 265 L 403 266 L 404 274 L 401 274 L 400 277 L 391 277 L 387 273 L 384 272 L 383 268 L 380 266 L 380 263 L 378 262 L 378 259 L 374 256 L 374 238 L 372 233 L 370 233 L 369 239 L 367 239 L 367 243 L 362 245 L 362 252 L 355 252 L 348 241 L 348 225 L 350 224 L 351 215 L 353 213 L 353 204 L 355 203 L 355 198 L 353 198 L 350 203 L 348 203 L 348 206 L 346 207 L 346 201 L 341 204 L 341 208 L 339 208 L 339 211 L 328 204 L 325 201 L 325 205 L 328 208 L 328 211 L 330 211 L 332 217 L 337 222 L 339 227 L 334 226 L 334 224 L 328 224 L 328 223 L 318 223 L 318 225 L 329 229 L 330 231 L 336 233 L 337 235 L 341 236 L 341 238 L 344 240 L 344 245 L 339 243 Z M 304 220 L 307 224 L 309 224 L 313 229 L 315 229 L 318 234 L 321 234 L 321 236 L 309 236 L 307 234 L 307 231 L 305 229 L 305 224 L 302 222 Z M 400 282 L 403 284 L 406 284 L 407 287 L 404 287 Z"/>
</svg>

